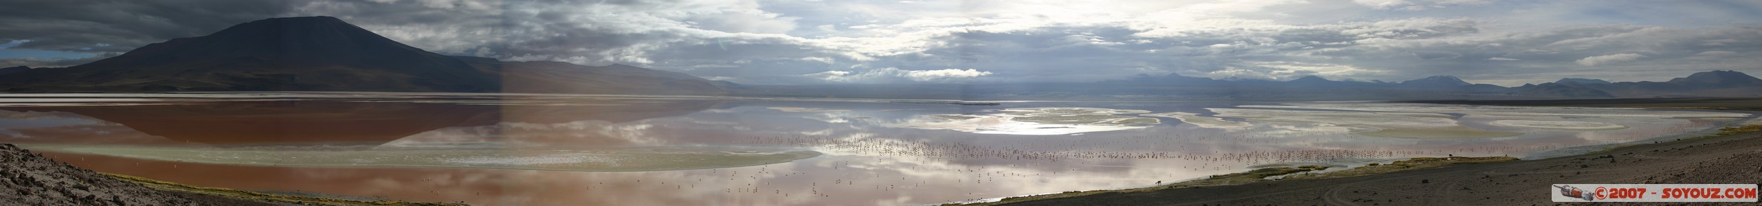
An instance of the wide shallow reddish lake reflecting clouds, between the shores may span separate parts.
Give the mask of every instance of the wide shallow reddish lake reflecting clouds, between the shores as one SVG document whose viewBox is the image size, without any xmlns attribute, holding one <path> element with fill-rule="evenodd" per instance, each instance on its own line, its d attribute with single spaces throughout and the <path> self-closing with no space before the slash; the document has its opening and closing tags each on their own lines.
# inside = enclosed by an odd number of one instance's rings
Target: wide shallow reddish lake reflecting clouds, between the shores
<svg viewBox="0 0 1762 206">
<path fill-rule="evenodd" d="M 1360 102 L 1362 104 L 1362 102 Z M 1011 107 L 1131 113 L 1025 114 Z M 132 106 L 4 107 L 7 143 L 88 146 L 354 146 L 368 150 L 747 146 L 823 155 L 765 166 L 684 171 L 529 171 L 462 167 L 277 167 L 51 153 L 81 167 L 203 187 L 301 190 L 472 204 L 929 204 L 1003 195 L 1145 187 L 1267 164 L 1357 166 L 1406 157 L 1512 155 L 1640 141 L 1753 116 L 1649 109 L 1433 107 L 1378 104 L 1010 102 L 1006 106 L 687 100 L 687 99 L 301 99 Z M 1219 111 L 1223 109 L 1223 111 Z M 1524 109 L 1524 107 L 1515 107 Z M 1138 113 L 1144 111 L 1144 113 Z M 1260 113 L 1336 118 L 1256 118 Z M 1323 113 L 1325 111 L 1325 113 Z M 1010 114 L 1017 113 L 1017 114 Z M 1145 114 L 1154 113 L 1154 114 Z M 1343 114 L 1344 113 L 1344 114 Z M 1499 137 L 1378 137 L 1390 123 L 1510 132 Z M 1556 116 L 1547 116 L 1556 114 Z M 969 116 L 969 118 L 960 118 Z M 983 116 L 1055 116 L 1043 127 L 1110 121 L 1126 130 L 1018 136 L 897 127 Z M 1265 116 L 1265 114 L 1262 114 Z M 1720 116 L 1720 118 L 1707 118 Z M 1159 121 L 1140 121 L 1151 118 Z M 1033 120 L 1033 118 L 1031 118 Z M 1071 120 L 1073 123 L 1062 123 Z M 1135 120 L 1131 123 L 1119 123 Z M 1521 120 L 1501 121 L 1498 120 Z M 1080 121 L 1080 123 L 1077 123 Z M 1195 121 L 1195 123 L 1184 123 Z M 1577 123 L 1573 123 L 1577 121 Z M 1031 121 L 1033 123 L 1033 121 Z M 1448 123 L 1448 125 L 1441 125 Z M 1503 127 L 1503 125 L 1524 127 Z M 1607 129 L 1607 125 L 1626 129 Z M 1103 123 L 1107 125 L 1107 123 Z M 1406 129 L 1406 125 L 1399 125 Z M 1566 127 L 1598 127 L 1579 130 Z M 1040 127 L 1033 127 L 1040 129 Z M 169 146 L 167 146 L 169 144 Z M 248 144 L 248 146 L 243 146 Z M 537 153 L 537 155 L 532 155 Z M 534 158 L 539 160 L 539 158 Z M 543 158 L 552 160 L 552 158 Z M 539 162 L 543 162 L 539 160 Z"/>
</svg>

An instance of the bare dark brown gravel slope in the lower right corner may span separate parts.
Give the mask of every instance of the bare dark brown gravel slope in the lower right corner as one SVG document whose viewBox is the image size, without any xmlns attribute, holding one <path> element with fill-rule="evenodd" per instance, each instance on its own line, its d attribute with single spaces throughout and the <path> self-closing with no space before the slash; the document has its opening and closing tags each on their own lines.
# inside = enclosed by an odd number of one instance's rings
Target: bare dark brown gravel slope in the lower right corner
<svg viewBox="0 0 1762 206">
<path fill-rule="evenodd" d="M 1011 206 L 1531 206 L 1558 204 L 1551 201 L 1551 195 L 1558 195 L 1552 183 L 1762 183 L 1762 132 L 1640 144 L 1607 153 L 1544 160 L 1457 164 L 1336 180 L 1279 180 L 1255 185 L 1114 192 L 1011 202 Z M 1736 204 L 1755 206 L 1757 202 Z"/>
</svg>

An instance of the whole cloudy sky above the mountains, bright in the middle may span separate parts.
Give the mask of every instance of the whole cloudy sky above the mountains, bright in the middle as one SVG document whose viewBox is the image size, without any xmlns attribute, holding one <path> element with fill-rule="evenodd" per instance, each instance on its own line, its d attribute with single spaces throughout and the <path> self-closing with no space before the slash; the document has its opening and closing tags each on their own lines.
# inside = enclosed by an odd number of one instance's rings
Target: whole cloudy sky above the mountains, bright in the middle
<svg viewBox="0 0 1762 206">
<path fill-rule="evenodd" d="M 1762 2 L 0 0 L 0 67 L 65 67 L 263 18 L 337 16 L 446 55 L 745 85 L 1133 74 L 1515 86 L 1762 76 Z"/>
</svg>

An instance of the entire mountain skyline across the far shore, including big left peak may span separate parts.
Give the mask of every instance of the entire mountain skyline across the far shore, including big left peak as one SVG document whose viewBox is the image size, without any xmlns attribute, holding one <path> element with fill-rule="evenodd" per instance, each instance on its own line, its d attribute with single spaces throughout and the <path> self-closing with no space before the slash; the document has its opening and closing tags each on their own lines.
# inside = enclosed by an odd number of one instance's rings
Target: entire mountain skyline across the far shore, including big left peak
<svg viewBox="0 0 1762 206">
<path fill-rule="evenodd" d="M 1762 79 L 1695 72 L 1663 83 L 1565 77 L 1515 88 L 1452 76 L 1385 81 L 1292 81 L 1147 76 L 1101 83 L 735 85 L 633 65 L 500 62 L 446 56 L 329 16 L 271 18 L 148 44 L 62 69 L 0 69 L 7 92 L 504 92 L 858 99 L 1145 99 L 1145 100 L 1454 100 L 1762 97 Z"/>
</svg>

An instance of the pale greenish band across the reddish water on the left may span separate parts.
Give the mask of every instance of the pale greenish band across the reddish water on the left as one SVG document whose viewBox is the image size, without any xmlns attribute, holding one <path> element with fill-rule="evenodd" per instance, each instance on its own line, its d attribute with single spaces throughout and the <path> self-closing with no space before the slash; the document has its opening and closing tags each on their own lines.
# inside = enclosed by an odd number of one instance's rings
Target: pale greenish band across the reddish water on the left
<svg viewBox="0 0 1762 206">
<path fill-rule="evenodd" d="M 287 167 L 483 167 L 544 171 L 678 171 L 781 164 L 816 151 L 740 146 L 624 148 L 349 148 L 349 146 L 118 146 L 19 144 L 39 151 L 88 153 L 197 164 Z"/>
</svg>

